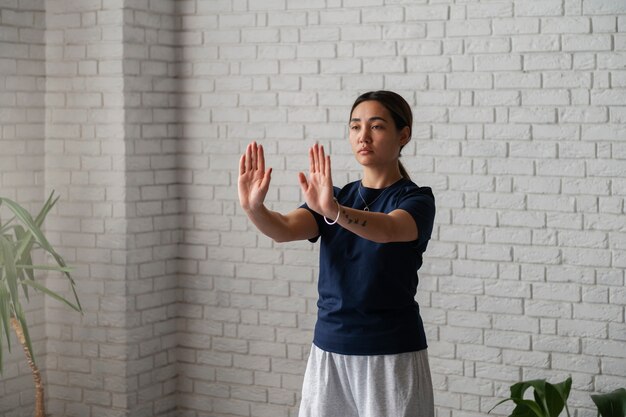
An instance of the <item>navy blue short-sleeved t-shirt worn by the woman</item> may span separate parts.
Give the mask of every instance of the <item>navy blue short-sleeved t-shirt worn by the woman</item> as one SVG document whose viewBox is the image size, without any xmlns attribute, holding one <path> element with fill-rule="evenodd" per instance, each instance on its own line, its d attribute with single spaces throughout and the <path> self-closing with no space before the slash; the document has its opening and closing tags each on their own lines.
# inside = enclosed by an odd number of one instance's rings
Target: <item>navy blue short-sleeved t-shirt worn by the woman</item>
<svg viewBox="0 0 626 417">
<path fill-rule="evenodd" d="M 313 213 L 321 237 L 318 319 L 313 343 L 347 355 L 382 355 L 426 348 L 424 325 L 415 301 L 422 254 L 435 218 L 435 198 L 429 187 L 401 179 L 383 189 L 360 181 L 335 187 L 339 204 L 372 212 L 407 211 L 418 229 L 412 242 L 376 243 L 347 229 L 328 225 Z M 375 201 L 374 201 L 375 200 Z M 372 204 L 371 202 L 374 201 Z"/>
</svg>

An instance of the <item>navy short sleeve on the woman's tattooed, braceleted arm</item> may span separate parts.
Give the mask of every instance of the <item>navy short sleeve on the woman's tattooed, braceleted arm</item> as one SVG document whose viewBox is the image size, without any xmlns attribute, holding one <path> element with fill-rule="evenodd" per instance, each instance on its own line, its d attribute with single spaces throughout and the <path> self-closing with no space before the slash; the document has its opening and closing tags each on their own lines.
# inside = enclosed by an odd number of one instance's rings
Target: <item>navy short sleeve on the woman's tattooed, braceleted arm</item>
<svg viewBox="0 0 626 417">
<path fill-rule="evenodd" d="M 418 244 L 424 244 L 433 232 L 435 196 L 430 187 L 407 187 L 399 197 L 397 208 L 408 212 L 417 225 Z"/>
</svg>

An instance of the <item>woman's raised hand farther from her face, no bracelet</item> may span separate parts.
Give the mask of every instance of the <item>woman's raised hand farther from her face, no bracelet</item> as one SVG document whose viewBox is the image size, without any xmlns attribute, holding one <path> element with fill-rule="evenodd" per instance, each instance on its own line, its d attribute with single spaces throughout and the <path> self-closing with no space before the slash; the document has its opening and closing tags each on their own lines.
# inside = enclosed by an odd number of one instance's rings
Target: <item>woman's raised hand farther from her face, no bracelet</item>
<svg viewBox="0 0 626 417">
<path fill-rule="evenodd" d="M 272 169 L 265 171 L 263 146 L 248 144 L 239 160 L 239 204 L 245 211 L 254 211 L 263 205 L 270 186 Z"/>
</svg>

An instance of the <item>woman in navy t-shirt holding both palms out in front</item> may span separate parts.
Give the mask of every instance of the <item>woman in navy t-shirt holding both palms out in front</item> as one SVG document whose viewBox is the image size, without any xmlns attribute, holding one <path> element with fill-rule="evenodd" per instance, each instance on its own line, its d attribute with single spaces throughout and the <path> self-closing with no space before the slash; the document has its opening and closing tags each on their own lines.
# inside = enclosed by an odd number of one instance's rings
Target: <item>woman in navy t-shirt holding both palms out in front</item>
<svg viewBox="0 0 626 417">
<path fill-rule="evenodd" d="M 361 95 L 349 136 L 362 179 L 334 187 L 330 157 L 315 144 L 308 178 L 298 175 L 306 204 L 285 215 L 263 205 L 272 170 L 262 146 L 251 143 L 241 157 L 239 199 L 258 229 L 277 242 L 321 237 L 318 320 L 300 417 L 434 415 L 415 293 L 435 204 L 399 161 L 412 122 L 398 94 Z"/>
</svg>

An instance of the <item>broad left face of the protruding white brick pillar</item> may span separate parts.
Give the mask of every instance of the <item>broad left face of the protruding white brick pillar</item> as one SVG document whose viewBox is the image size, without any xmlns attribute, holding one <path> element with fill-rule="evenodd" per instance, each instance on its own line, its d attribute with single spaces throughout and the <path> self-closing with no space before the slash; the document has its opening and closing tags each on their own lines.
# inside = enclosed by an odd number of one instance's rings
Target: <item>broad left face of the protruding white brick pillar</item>
<svg viewBox="0 0 626 417">
<path fill-rule="evenodd" d="M 138 351 L 127 334 L 137 317 L 126 296 L 123 14 L 106 3 L 46 3 L 46 188 L 61 195 L 49 229 L 76 268 L 84 308 L 81 317 L 46 303 L 53 416 L 125 415 L 137 385 L 126 369 Z"/>
</svg>

